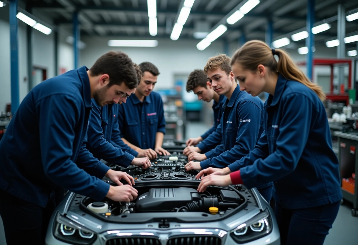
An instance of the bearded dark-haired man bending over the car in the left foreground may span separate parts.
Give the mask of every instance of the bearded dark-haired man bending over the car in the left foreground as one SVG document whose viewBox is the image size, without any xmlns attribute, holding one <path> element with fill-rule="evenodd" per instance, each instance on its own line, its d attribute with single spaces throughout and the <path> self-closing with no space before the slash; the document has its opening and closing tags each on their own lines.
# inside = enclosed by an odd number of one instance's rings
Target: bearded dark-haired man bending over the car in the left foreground
<svg viewBox="0 0 358 245">
<path fill-rule="evenodd" d="M 91 98 L 101 106 L 118 103 L 137 85 L 131 59 L 108 52 L 91 69 L 50 78 L 26 95 L 0 141 L 0 215 L 8 245 L 44 243 L 58 187 L 98 201 L 137 197 L 131 176 L 110 169 L 83 144 Z"/>
</svg>

